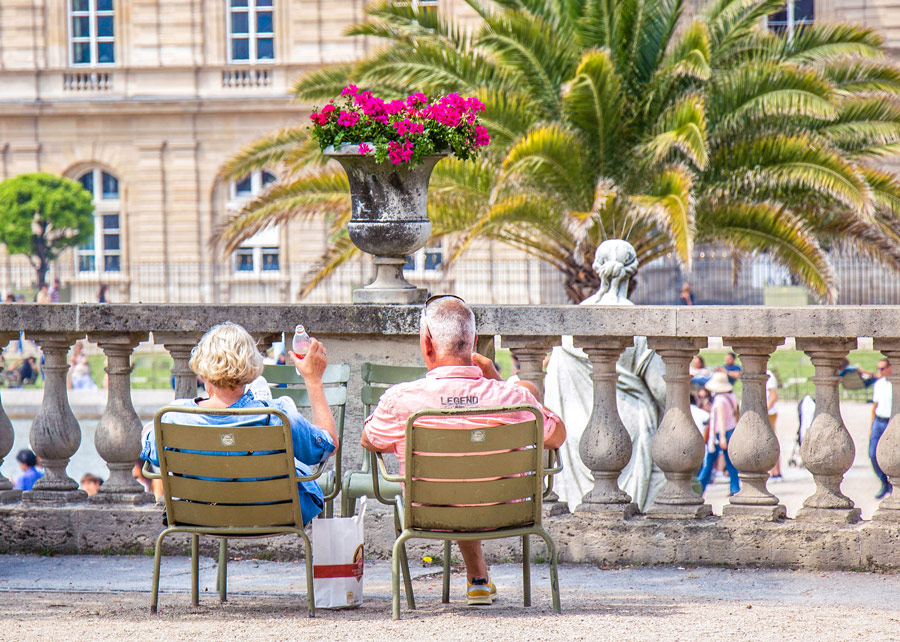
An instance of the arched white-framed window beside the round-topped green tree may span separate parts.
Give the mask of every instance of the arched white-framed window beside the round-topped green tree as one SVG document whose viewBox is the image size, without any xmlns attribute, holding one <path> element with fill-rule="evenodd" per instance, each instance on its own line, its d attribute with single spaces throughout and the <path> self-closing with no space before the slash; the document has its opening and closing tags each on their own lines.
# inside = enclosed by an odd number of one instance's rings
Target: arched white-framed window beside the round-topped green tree
<svg viewBox="0 0 900 642">
<path fill-rule="evenodd" d="M 103 170 L 92 169 L 78 181 L 94 198 L 94 237 L 76 249 L 75 269 L 81 273 L 121 272 L 119 180 Z"/>
</svg>

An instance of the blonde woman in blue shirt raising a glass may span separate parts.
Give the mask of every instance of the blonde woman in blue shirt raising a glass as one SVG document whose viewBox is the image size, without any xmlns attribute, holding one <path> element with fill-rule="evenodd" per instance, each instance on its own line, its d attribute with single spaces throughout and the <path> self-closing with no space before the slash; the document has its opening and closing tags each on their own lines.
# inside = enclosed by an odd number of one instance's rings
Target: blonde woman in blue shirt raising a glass
<svg viewBox="0 0 900 642">
<path fill-rule="evenodd" d="M 253 337 L 241 326 L 223 323 L 203 335 L 200 343 L 191 351 L 190 366 L 206 384 L 207 399 L 176 399 L 174 406 L 189 408 L 278 408 L 291 422 L 291 438 L 297 475 L 308 475 L 309 466 L 325 461 L 338 446 L 337 427 L 325 398 L 322 374 L 328 360 L 325 346 L 312 339 L 309 352 L 301 359 L 288 353 L 297 371 L 303 377 L 309 392 L 313 423 L 307 421 L 288 397 L 271 401 L 257 400 L 245 387 L 260 376 L 263 358 Z M 195 425 L 247 425 L 258 419 L 228 415 L 167 413 L 166 420 Z M 252 425 L 252 423 L 250 424 Z M 141 459 L 159 465 L 156 452 L 156 436 L 153 424 L 144 428 Z M 309 523 L 322 512 L 322 490 L 315 481 L 298 482 L 300 510 L 303 523 Z"/>
</svg>

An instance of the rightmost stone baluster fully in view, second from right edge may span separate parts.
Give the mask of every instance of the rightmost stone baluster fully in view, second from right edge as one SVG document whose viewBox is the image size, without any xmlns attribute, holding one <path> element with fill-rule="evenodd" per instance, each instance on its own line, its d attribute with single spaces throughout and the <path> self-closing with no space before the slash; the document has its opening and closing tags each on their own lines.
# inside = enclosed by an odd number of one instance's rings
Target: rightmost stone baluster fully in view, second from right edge
<svg viewBox="0 0 900 642">
<path fill-rule="evenodd" d="M 797 519 L 855 523 L 860 511 L 841 492 L 841 482 L 856 455 L 853 439 L 841 419 L 837 376 L 841 360 L 856 347 L 856 339 L 798 338 L 797 348 L 809 355 L 816 368 L 816 414 L 800 447 L 803 465 L 816 481 L 816 492 L 806 498 Z"/>
</svg>

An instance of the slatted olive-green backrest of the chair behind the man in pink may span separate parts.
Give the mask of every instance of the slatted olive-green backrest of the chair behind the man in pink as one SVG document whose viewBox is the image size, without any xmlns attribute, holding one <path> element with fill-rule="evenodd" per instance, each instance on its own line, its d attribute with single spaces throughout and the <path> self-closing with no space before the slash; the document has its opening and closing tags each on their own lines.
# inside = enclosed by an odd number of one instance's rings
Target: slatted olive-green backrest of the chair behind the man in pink
<svg viewBox="0 0 900 642">
<path fill-rule="evenodd" d="M 503 423 L 523 415 L 533 418 Z M 488 421 L 496 423 L 484 425 Z M 533 406 L 412 415 L 406 422 L 405 527 L 475 531 L 540 524 L 543 425 Z"/>
</svg>

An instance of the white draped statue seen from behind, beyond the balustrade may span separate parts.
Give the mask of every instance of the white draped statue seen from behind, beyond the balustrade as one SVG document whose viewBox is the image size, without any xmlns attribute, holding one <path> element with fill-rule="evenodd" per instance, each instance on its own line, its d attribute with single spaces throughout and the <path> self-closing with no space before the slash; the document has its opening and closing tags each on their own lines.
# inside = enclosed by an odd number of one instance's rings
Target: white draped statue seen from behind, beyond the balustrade
<svg viewBox="0 0 900 642">
<path fill-rule="evenodd" d="M 628 300 L 628 286 L 637 267 L 637 254 L 630 243 L 604 241 L 594 257 L 600 289 L 580 305 L 634 305 Z M 643 511 L 665 485 L 662 471 L 650 456 L 650 443 L 665 408 L 665 366 L 647 347 L 646 337 L 635 337 L 634 346 L 626 348 L 619 358 L 616 373 L 619 416 L 632 441 L 631 461 L 619 476 L 619 487 Z M 560 448 L 565 467 L 553 488 L 574 510 L 594 486 L 594 478 L 578 454 L 581 435 L 591 416 L 594 389 L 591 362 L 584 351 L 573 346 L 572 337 L 564 336 L 562 347 L 553 349 L 544 386 L 544 403 L 562 417 L 568 433 Z"/>
</svg>

